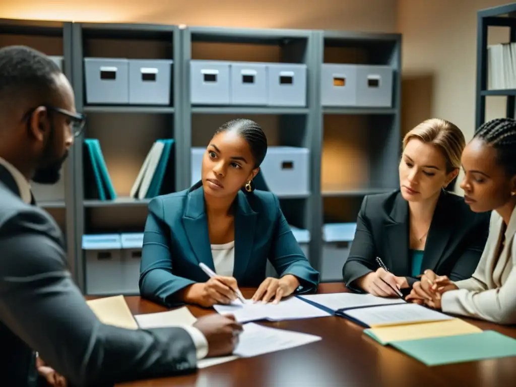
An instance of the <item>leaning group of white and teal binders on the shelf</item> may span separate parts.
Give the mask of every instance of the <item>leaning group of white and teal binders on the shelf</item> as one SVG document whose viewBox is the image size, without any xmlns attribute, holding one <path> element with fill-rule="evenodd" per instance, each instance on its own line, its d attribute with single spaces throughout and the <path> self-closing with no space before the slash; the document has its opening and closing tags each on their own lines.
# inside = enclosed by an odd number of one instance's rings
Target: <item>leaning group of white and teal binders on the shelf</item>
<svg viewBox="0 0 516 387">
<path fill-rule="evenodd" d="M 172 189 L 163 190 L 163 183 L 172 183 L 174 180 L 174 163 L 170 163 L 173 139 L 159 139 L 151 147 L 140 172 L 131 188 L 131 197 L 135 199 L 154 198 Z"/>
</svg>

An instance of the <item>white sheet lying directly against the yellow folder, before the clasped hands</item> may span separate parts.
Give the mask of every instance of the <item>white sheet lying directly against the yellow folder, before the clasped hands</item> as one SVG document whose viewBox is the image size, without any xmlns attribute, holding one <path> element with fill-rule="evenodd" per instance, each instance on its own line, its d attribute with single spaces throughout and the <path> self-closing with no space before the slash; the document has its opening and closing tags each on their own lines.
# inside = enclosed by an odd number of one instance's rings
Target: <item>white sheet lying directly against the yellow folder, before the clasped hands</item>
<svg viewBox="0 0 516 387">
<path fill-rule="evenodd" d="M 413 303 L 351 309 L 345 312 L 369 327 L 450 320 L 453 317 Z"/>
</svg>

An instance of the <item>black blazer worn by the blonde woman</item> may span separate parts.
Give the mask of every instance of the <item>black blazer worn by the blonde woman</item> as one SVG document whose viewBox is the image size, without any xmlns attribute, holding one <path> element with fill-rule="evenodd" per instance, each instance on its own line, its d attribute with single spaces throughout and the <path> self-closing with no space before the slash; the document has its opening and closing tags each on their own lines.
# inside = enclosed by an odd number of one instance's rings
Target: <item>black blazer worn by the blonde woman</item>
<svg viewBox="0 0 516 387">
<path fill-rule="evenodd" d="M 428 231 L 421 271 L 431 269 L 452 281 L 470 278 L 486 244 L 490 216 L 490 212 L 472 212 L 462 197 L 443 190 Z M 400 190 L 366 196 L 342 268 L 346 286 L 360 292 L 353 281 L 378 269 L 375 258 L 379 256 L 389 271 L 406 277 L 412 287 L 418 280 L 410 277 L 409 243 L 409 204 Z"/>
</svg>

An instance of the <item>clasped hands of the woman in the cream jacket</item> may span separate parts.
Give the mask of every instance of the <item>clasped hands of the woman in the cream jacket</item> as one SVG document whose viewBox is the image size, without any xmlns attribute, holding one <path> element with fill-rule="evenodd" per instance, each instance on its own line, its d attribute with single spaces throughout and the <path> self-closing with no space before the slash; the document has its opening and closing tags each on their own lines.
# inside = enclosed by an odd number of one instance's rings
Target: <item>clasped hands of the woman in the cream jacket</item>
<svg viewBox="0 0 516 387">
<path fill-rule="evenodd" d="M 438 276 L 432 270 L 425 270 L 421 280 L 412 285 L 410 294 L 405 298 L 420 305 L 425 304 L 429 308 L 441 309 L 441 297 L 443 293 L 458 289 L 447 276 Z"/>
</svg>

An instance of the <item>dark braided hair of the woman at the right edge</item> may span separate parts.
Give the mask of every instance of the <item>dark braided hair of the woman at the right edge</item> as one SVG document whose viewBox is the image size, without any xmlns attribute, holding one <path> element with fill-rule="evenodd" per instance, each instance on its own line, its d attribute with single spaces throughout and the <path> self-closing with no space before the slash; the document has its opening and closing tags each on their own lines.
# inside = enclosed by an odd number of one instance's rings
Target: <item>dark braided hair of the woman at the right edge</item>
<svg viewBox="0 0 516 387">
<path fill-rule="evenodd" d="M 482 124 L 475 136 L 496 150 L 498 163 L 509 176 L 516 175 L 516 120 L 496 118 Z"/>
</svg>

